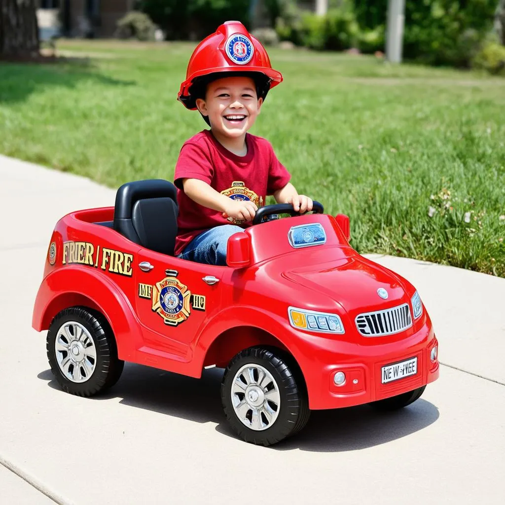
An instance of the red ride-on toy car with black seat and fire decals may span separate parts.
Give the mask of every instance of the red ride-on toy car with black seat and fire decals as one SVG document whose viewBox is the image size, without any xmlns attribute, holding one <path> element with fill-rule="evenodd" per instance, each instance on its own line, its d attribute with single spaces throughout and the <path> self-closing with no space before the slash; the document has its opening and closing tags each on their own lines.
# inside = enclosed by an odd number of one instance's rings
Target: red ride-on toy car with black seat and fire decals
<svg viewBox="0 0 505 505">
<path fill-rule="evenodd" d="M 33 311 L 61 387 L 91 396 L 125 361 L 200 377 L 226 368 L 225 415 L 247 442 L 301 430 L 310 410 L 405 407 L 439 374 L 416 289 L 360 256 L 349 220 L 261 208 L 228 242 L 228 266 L 173 256 L 175 187 L 121 186 L 116 205 L 56 225 Z M 277 219 L 277 214 L 292 217 Z"/>
</svg>

